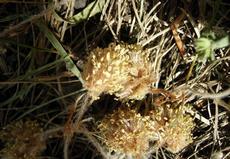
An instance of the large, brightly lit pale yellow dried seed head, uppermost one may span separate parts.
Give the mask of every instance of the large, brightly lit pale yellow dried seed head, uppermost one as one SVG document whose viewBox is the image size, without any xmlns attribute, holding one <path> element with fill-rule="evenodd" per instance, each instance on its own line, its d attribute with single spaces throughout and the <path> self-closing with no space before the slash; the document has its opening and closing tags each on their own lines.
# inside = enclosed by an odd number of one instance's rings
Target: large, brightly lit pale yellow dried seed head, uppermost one
<svg viewBox="0 0 230 159">
<path fill-rule="evenodd" d="M 143 99 L 154 82 L 149 53 L 138 45 L 96 48 L 84 66 L 84 87 L 93 99 L 114 94 L 120 99 Z"/>
</svg>

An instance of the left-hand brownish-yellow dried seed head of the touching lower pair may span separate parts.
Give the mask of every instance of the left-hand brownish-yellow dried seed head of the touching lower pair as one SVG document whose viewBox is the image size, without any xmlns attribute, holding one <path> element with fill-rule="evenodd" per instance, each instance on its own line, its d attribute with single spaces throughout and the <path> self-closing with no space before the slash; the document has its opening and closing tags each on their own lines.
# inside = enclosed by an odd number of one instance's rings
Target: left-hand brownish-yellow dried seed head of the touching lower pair
<svg viewBox="0 0 230 159">
<path fill-rule="evenodd" d="M 98 128 L 109 150 L 135 158 L 147 155 L 150 141 L 157 139 L 155 122 L 129 107 L 107 115 Z"/>
</svg>

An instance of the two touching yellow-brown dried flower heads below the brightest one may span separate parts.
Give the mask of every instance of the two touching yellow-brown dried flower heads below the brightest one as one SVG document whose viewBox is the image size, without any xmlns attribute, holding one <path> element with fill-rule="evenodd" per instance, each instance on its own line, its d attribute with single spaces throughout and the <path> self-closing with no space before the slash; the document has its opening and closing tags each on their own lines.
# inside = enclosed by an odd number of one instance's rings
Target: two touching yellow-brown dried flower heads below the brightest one
<svg viewBox="0 0 230 159">
<path fill-rule="evenodd" d="M 162 106 L 156 109 L 142 116 L 135 110 L 121 107 L 107 115 L 98 128 L 108 149 L 142 158 L 159 147 L 177 153 L 189 145 L 194 123 L 185 113 L 186 108 Z"/>
</svg>

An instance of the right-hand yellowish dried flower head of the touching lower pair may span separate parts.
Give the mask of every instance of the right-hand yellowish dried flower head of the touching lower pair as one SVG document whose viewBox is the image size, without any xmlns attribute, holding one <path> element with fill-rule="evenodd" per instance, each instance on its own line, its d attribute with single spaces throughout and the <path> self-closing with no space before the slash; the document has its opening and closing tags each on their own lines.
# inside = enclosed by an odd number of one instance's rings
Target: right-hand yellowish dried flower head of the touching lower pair
<svg viewBox="0 0 230 159">
<path fill-rule="evenodd" d="M 172 153 L 178 153 L 193 142 L 192 130 L 195 123 L 190 114 L 190 106 L 184 105 L 181 98 L 173 100 L 160 96 L 154 102 L 154 110 L 150 111 L 150 117 L 155 120 L 161 136 L 158 147 L 164 147 Z M 159 102 L 161 101 L 161 102 Z"/>
</svg>

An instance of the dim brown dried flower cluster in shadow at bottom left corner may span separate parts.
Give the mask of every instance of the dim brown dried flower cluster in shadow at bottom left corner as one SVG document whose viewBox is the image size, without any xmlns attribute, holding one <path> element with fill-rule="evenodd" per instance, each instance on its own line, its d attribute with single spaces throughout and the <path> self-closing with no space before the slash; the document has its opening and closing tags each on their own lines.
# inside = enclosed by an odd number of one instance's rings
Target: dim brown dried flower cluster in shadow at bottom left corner
<svg viewBox="0 0 230 159">
<path fill-rule="evenodd" d="M 43 130 L 35 121 L 16 122 L 7 125 L 0 132 L 0 139 L 6 143 L 0 156 L 8 159 L 36 159 L 45 149 Z"/>
</svg>

